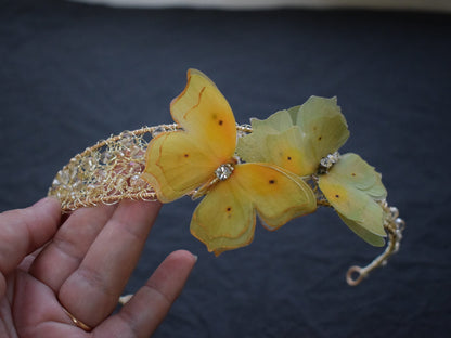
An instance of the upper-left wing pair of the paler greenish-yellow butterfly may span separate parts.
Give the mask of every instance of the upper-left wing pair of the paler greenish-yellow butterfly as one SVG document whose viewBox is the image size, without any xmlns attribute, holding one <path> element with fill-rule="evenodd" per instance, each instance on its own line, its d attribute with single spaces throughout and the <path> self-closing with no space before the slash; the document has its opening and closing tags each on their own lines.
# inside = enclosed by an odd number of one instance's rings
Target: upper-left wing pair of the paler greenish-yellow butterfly
<svg viewBox="0 0 451 338">
<path fill-rule="evenodd" d="M 311 96 L 301 106 L 253 120 L 253 133 L 239 140 L 247 161 L 275 164 L 298 176 L 317 171 L 321 158 L 336 152 L 349 131 L 336 99 Z"/>
</svg>

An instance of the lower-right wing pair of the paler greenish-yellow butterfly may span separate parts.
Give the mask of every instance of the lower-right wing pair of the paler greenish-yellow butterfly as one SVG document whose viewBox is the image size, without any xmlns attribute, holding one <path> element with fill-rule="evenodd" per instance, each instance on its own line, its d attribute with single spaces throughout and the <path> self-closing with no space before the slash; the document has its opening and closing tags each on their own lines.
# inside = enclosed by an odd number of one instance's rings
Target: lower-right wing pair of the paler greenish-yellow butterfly
<svg viewBox="0 0 451 338">
<path fill-rule="evenodd" d="M 361 238 L 383 246 L 384 212 L 377 200 L 386 197 L 381 174 L 356 154 L 345 154 L 319 186 L 344 222 Z"/>
</svg>

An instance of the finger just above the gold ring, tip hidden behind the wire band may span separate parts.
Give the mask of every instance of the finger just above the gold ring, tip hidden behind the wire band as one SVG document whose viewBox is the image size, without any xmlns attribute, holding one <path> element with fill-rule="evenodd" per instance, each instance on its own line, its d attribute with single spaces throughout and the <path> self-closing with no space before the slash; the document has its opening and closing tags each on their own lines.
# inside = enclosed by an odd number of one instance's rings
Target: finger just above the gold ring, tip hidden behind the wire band
<svg viewBox="0 0 451 338">
<path fill-rule="evenodd" d="M 94 327 L 114 310 L 159 208 L 159 203 L 118 205 L 79 268 L 61 286 L 61 303 L 78 320 Z"/>
</svg>

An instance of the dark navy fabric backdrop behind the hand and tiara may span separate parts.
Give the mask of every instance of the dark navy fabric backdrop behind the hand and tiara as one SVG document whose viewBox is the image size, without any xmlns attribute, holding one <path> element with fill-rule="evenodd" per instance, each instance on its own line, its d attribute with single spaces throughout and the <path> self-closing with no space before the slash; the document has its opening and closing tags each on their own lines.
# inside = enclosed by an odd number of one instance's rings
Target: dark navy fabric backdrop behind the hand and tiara
<svg viewBox="0 0 451 338">
<path fill-rule="evenodd" d="M 218 258 L 189 233 L 196 203 L 166 205 L 127 286 L 175 249 L 199 259 L 155 337 L 446 337 L 451 329 L 451 17 L 366 11 L 119 10 L 0 2 L 0 211 L 112 133 L 170 122 L 185 72 L 206 73 L 240 123 L 338 98 L 356 152 L 407 221 L 401 250 L 357 287 L 381 249 L 328 209 Z"/>
</svg>

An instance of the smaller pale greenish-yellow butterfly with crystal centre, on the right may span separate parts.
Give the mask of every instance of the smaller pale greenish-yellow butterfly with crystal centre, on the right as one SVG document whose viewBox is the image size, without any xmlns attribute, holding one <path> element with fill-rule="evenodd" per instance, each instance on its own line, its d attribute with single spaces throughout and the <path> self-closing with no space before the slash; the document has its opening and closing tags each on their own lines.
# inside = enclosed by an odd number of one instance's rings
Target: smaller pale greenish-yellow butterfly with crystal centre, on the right
<svg viewBox="0 0 451 338">
<path fill-rule="evenodd" d="M 336 99 L 311 96 L 304 105 L 252 119 L 253 133 L 239 141 L 248 161 L 274 164 L 297 176 L 312 176 L 342 220 L 361 238 L 383 246 L 387 196 L 381 174 L 356 154 L 339 156 L 349 136 Z M 320 169 L 320 170 L 319 170 Z"/>
</svg>

